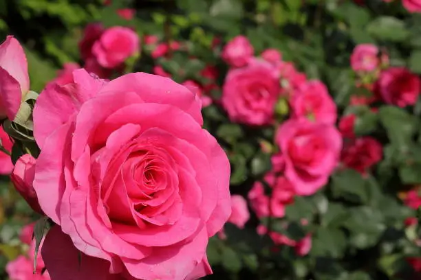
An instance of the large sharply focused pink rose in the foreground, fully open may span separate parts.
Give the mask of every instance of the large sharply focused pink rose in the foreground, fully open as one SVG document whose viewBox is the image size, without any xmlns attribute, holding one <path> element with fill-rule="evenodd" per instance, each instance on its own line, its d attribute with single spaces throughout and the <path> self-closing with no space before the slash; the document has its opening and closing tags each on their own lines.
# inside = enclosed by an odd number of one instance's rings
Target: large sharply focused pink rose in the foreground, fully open
<svg viewBox="0 0 421 280">
<path fill-rule="evenodd" d="M 39 204 L 110 274 L 166 280 L 210 272 L 208 238 L 231 212 L 230 165 L 202 129 L 200 109 L 186 87 L 147 73 L 107 83 L 80 69 L 73 84 L 40 94 L 34 108 Z M 67 254 L 48 248 L 50 236 L 43 256 L 54 267 Z M 91 270 L 78 279 L 107 277 Z"/>
</svg>

